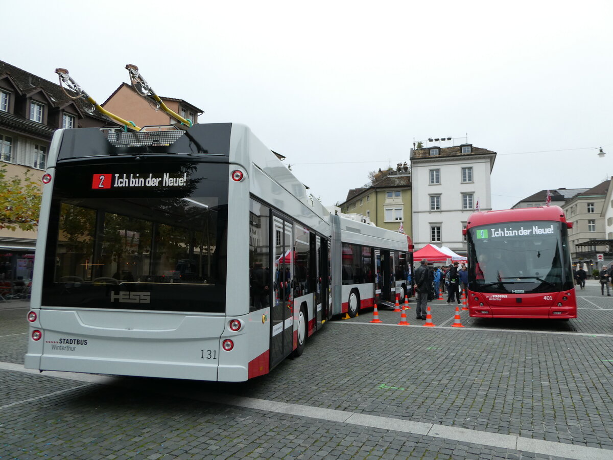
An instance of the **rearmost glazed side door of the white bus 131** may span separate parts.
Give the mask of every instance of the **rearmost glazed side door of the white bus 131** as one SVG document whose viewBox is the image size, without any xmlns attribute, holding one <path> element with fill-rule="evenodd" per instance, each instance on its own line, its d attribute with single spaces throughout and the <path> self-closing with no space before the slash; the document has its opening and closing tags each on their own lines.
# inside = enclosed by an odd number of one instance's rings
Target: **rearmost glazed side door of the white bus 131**
<svg viewBox="0 0 613 460">
<path fill-rule="evenodd" d="M 294 242 L 292 224 L 273 217 L 273 306 L 270 313 L 270 367 L 283 361 L 292 351 L 294 332 L 292 278 L 294 273 Z"/>
</svg>

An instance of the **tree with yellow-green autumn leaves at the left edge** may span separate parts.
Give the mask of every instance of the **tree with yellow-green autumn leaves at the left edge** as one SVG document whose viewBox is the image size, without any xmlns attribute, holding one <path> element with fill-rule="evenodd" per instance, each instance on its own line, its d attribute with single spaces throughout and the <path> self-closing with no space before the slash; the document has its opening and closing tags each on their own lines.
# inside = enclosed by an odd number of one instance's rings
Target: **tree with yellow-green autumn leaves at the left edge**
<svg viewBox="0 0 613 460">
<path fill-rule="evenodd" d="M 42 192 L 32 175 L 28 169 L 21 176 L 9 178 L 6 166 L 0 166 L 0 229 L 37 228 Z"/>
</svg>

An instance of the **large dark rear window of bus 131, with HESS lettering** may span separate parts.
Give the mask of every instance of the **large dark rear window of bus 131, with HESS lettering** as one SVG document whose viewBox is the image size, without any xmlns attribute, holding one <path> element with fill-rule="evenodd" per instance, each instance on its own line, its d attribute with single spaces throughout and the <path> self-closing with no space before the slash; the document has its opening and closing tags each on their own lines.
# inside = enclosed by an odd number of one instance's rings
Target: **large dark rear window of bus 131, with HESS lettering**
<svg viewBox="0 0 613 460">
<path fill-rule="evenodd" d="M 219 168 L 227 165 L 208 164 L 207 175 L 227 177 L 211 174 Z M 105 169 L 122 177 L 116 170 Z M 91 191 L 91 178 L 77 167 L 56 172 L 42 303 L 224 312 L 227 182 L 105 194 Z"/>
</svg>

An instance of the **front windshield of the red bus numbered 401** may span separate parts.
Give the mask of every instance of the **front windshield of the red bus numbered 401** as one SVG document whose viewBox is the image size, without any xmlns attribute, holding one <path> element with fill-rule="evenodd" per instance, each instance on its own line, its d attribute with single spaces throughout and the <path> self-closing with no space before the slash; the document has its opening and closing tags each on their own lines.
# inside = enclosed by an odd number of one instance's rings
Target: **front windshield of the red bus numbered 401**
<svg viewBox="0 0 613 460">
<path fill-rule="evenodd" d="M 547 293 L 572 288 L 559 222 L 508 222 L 471 228 L 469 285 L 491 293 Z M 566 262 L 568 261 L 568 263 Z"/>
</svg>

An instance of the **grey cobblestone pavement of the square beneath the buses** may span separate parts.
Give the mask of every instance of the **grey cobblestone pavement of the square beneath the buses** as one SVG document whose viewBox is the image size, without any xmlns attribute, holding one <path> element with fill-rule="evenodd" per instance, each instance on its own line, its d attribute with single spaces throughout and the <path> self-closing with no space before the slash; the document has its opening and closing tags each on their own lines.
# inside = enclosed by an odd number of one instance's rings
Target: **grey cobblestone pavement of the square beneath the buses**
<svg viewBox="0 0 613 460">
<path fill-rule="evenodd" d="M 579 318 L 568 322 L 470 321 L 462 312 L 466 327 L 451 328 L 455 306 L 444 301 L 431 304 L 435 328 L 413 310 L 411 326 L 397 326 L 400 313 L 389 310 L 379 310 L 382 324 L 368 323 L 371 312 L 332 321 L 302 357 L 234 384 L 102 385 L 23 372 L 15 364 L 28 304 L 0 304 L 0 459 L 613 458 L 613 297 L 596 283 L 577 291 Z M 255 399 L 261 406 L 248 407 Z M 283 413 L 278 403 L 313 413 Z M 376 423 L 330 420 L 325 410 Z M 385 420 L 391 428 L 377 427 Z M 402 428 L 411 422 L 466 437 Z M 506 448 L 487 435 L 552 450 Z"/>
</svg>

